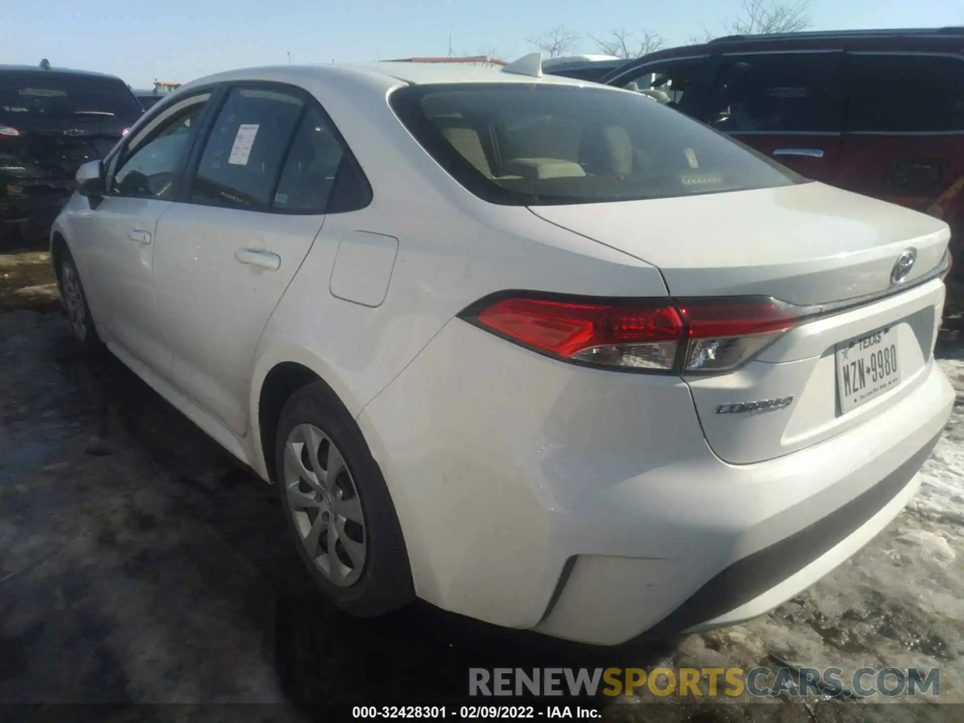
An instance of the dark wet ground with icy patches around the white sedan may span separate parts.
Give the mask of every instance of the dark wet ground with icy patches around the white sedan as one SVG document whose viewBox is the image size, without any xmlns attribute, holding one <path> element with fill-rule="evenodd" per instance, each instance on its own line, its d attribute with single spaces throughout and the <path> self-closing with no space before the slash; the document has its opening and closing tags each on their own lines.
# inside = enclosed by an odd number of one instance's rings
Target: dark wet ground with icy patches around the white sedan
<svg viewBox="0 0 964 723">
<path fill-rule="evenodd" d="M 964 399 L 958 323 L 946 324 L 938 351 Z M 270 704 L 228 717 L 347 720 L 351 705 L 458 702 L 470 666 L 778 661 L 939 666 L 941 703 L 964 704 L 962 441 L 964 404 L 907 510 L 832 575 L 746 625 L 612 653 L 425 604 L 360 621 L 312 595 L 271 488 L 120 362 L 79 356 L 46 254 L 0 254 L 0 704 Z M 932 702 L 651 700 L 599 703 L 613 721 L 964 719 L 964 706 Z M 197 706 L 165 710 L 211 719 Z M 96 718 L 133 719 L 124 715 Z"/>
</svg>

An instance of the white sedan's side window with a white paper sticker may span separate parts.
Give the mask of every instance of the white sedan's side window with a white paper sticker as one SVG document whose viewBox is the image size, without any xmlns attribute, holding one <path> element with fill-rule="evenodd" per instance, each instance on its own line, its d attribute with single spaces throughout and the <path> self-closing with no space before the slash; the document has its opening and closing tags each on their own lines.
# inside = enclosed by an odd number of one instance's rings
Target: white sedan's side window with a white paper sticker
<svg viewBox="0 0 964 723">
<path fill-rule="evenodd" d="M 191 201 L 267 210 L 305 103 L 296 94 L 235 88 L 214 121 Z"/>
</svg>

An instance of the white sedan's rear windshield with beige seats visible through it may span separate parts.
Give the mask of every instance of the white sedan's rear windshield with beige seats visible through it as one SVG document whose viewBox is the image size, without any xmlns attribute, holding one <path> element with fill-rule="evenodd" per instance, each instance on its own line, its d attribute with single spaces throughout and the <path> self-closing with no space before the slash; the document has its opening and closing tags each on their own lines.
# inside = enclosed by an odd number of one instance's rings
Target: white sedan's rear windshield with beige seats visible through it
<svg viewBox="0 0 964 723">
<path fill-rule="evenodd" d="M 395 113 L 494 203 L 631 201 L 786 186 L 799 175 L 640 94 L 527 84 L 410 86 Z"/>
</svg>

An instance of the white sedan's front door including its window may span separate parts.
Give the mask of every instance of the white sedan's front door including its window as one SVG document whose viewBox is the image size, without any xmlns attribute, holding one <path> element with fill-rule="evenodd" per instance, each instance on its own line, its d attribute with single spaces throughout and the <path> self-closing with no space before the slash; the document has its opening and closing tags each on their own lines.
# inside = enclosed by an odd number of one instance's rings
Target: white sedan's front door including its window
<svg viewBox="0 0 964 723">
<path fill-rule="evenodd" d="M 154 240 L 207 97 L 188 98 L 139 130 L 112 163 L 104 198 L 76 220 L 76 260 L 96 323 L 110 344 L 165 378 L 171 352 L 154 296 Z"/>
</svg>

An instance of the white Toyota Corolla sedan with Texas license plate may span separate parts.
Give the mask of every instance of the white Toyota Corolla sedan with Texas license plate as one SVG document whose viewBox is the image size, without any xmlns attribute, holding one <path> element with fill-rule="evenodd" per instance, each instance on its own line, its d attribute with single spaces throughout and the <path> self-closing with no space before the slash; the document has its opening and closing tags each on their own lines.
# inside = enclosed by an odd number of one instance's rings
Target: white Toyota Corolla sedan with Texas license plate
<svg viewBox="0 0 964 723">
<path fill-rule="evenodd" d="M 745 620 L 897 515 L 951 412 L 943 222 L 532 57 L 210 76 L 78 184 L 75 335 L 275 484 L 358 615 Z"/>
</svg>

